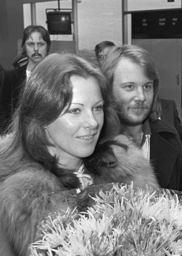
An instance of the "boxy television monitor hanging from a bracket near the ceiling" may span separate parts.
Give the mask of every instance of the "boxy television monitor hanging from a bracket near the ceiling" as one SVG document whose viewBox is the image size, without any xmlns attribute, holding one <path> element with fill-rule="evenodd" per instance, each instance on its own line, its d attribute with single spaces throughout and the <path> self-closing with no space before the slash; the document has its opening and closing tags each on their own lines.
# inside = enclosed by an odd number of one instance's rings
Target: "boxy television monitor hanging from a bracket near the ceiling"
<svg viewBox="0 0 182 256">
<path fill-rule="evenodd" d="M 46 12 L 47 27 L 50 35 L 71 35 L 71 12 Z"/>
</svg>

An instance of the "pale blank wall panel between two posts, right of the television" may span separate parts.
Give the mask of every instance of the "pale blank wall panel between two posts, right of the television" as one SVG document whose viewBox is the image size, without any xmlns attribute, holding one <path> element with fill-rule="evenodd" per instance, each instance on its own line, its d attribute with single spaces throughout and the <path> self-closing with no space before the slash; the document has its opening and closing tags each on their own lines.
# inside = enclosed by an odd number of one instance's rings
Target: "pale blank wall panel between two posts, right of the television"
<svg viewBox="0 0 182 256">
<path fill-rule="evenodd" d="M 122 1 L 82 0 L 78 4 L 79 48 L 94 49 L 101 41 L 122 44 Z"/>
</svg>

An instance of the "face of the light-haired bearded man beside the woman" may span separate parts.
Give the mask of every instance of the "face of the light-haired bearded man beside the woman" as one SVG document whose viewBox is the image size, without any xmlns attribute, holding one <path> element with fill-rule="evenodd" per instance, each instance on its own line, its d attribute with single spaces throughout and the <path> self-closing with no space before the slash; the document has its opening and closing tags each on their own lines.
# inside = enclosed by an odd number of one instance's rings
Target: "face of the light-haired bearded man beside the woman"
<svg viewBox="0 0 182 256">
<path fill-rule="evenodd" d="M 114 72 L 113 93 L 120 121 L 128 126 L 142 124 L 149 116 L 154 97 L 154 80 L 130 59 L 120 60 Z"/>
</svg>

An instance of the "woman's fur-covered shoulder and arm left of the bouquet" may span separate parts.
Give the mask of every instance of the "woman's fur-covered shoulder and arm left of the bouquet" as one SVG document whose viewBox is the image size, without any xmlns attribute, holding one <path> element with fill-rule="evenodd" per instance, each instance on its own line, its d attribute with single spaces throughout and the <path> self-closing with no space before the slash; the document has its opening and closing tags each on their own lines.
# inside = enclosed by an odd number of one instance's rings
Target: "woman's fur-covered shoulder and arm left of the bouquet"
<svg viewBox="0 0 182 256">
<path fill-rule="evenodd" d="M 1 182 L 0 225 L 18 255 L 28 255 L 28 244 L 34 241 L 39 222 L 61 208 L 60 190 L 54 174 L 33 166 L 22 167 Z"/>
</svg>

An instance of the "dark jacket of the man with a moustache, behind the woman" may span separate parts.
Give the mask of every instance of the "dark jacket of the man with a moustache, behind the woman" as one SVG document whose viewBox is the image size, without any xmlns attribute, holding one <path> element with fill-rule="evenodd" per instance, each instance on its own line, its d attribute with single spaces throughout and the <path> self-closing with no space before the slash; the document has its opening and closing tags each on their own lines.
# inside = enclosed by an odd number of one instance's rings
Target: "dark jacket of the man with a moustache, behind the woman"
<svg viewBox="0 0 182 256">
<path fill-rule="evenodd" d="M 0 89 L 0 134 L 3 134 L 11 122 L 17 108 L 18 97 L 26 78 L 27 64 L 4 72 Z"/>
</svg>

